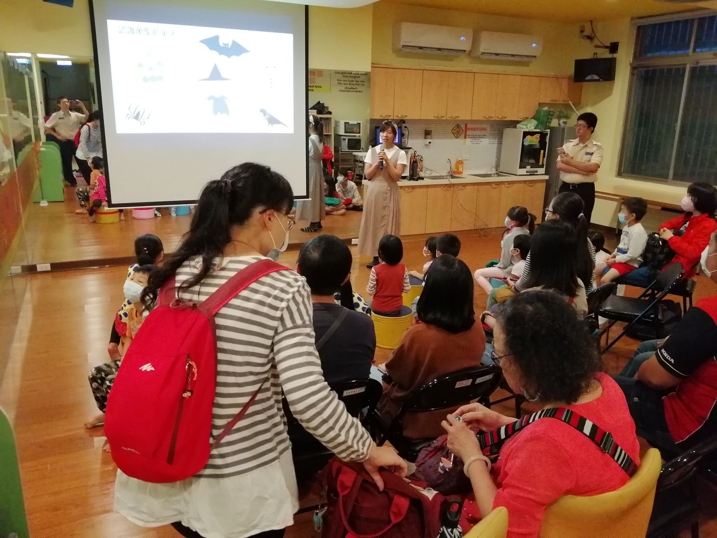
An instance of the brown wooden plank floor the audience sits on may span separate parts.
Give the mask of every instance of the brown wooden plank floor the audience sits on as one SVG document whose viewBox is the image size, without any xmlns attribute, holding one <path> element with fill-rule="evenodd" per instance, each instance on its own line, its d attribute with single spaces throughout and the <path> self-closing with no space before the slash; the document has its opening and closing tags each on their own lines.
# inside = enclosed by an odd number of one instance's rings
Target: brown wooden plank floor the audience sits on
<svg viewBox="0 0 717 538">
<path fill-rule="evenodd" d="M 495 258 L 500 250 L 499 232 L 490 237 L 463 235 L 462 240 L 460 258 L 472 269 Z M 404 261 L 409 268 L 423 265 L 422 247 L 423 240 L 404 242 Z M 285 253 L 280 262 L 292 267 L 296 256 L 296 252 Z M 360 293 L 369 270 L 363 265 L 366 260 L 359 263 L 356 258 L 352 281 Z M 107 360 L 110 324 L 123 301 L 124 277 L 124 267 L 14 277 L 22 278 L 27 286 L 0 385 L 0 405 L 14 423 L 33 537 L 177 536 L 169 527 L 142 529 L 113 513 L 115 466 L 101 450 L 103 431 L 87 432 L 82 427 L 85 418 L 97 411 L 87 374 Z M 717 292 L 708 279 L 698 280 L 696 296 Z M 478 286 L 475 305 L 478 313 L 483 311 L 485 294 Z M 637 342 L 622 339 L 607 355 L 606 371 L 618 372 L 635 346 Z M 386 357 L 388 352 L 377 351 L 379 362 Z M 508 404 L 501 412 L 510 410 Z M 714 495 L 706 499 L 717 504 Z M 287 536 L 315 537 L 311 514 L 298 516 Z M 703 536 L 717 536 L 715 519 L 704 522 Z"/>
</svg>

